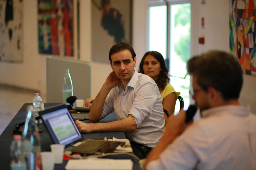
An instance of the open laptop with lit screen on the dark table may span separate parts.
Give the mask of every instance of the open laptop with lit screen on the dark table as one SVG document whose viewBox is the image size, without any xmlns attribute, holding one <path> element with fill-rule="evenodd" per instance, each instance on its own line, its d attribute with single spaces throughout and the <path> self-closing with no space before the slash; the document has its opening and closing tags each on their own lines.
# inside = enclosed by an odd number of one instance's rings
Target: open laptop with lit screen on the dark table
<svg viewBox="0 0 256 170">
<path fill-rule="evenodd" d="M 84 139 L 66 105 L 39 112 L 43 124 L 54 144 L 65 145 L 65 150 L 80 154 L 102 154 L 113 152 L 125 142 L 99 139 Z"/>
</svg>

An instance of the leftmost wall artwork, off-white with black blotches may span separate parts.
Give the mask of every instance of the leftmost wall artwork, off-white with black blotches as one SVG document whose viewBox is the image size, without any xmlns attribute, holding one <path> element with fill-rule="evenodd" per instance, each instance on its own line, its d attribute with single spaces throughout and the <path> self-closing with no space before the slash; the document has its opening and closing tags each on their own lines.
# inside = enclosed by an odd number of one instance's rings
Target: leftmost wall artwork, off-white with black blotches
<svg viewBox="0 0 256 170">
<path fill-rule="evenodd" d="M 0 62 L 23 62 L 23 3 L 0 0 Z"/>
</svg>

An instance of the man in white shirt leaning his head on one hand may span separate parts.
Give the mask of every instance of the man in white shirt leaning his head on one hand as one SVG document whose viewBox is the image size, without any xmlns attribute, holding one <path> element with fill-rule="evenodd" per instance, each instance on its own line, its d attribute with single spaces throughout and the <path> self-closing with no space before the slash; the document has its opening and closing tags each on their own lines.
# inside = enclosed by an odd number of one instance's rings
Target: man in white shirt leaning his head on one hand
<svg viewBox="0 0 256 170">
<path fill-rule="evenodd" d="M 129 44 L 113 45 L 109 60 L 113 71 L 94 99 L 89 119 L 99 121 L 115 111 L 119 120 L 94 124 L 77 120 L 77 127 L 85 133 L 124 131 L 135 155 L 144 159 L 162 137 L 161 94 L 152 78 L 134 70 L 136 54 Z"/>
</svg>

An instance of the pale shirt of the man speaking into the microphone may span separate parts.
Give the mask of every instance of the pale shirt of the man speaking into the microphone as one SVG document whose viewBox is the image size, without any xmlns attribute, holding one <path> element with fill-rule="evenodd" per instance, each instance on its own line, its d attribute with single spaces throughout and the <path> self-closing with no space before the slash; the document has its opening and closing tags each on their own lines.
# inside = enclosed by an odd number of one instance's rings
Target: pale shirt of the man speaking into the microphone
<svg viewBox="0 0 256 170">
<path fill-rule="evenodd" d="M 202 112 L 147 170 L 256 170 L 256 115 L 247 106 Z"/>
</svg>

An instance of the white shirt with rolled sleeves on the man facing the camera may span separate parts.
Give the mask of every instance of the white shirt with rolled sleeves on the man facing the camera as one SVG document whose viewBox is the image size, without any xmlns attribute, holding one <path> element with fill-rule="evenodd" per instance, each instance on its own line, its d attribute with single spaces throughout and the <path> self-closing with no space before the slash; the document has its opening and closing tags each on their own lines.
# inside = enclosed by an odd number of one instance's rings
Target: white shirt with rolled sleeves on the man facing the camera
<svg viewBox="0 0 256 170">
<path fill-rule="evenodd" d="M 162 137 L 164 113 L 161 94 L 149 76 L 135 71 L 126 90 L 122 84 L 113 88 L 105 100 L 102 118 L 113 111 L 119 120 L 133 116 L 137 129 L 124 132 L 130 141 L 154 148 Z"/>
</svg>

